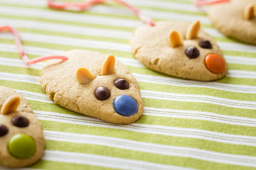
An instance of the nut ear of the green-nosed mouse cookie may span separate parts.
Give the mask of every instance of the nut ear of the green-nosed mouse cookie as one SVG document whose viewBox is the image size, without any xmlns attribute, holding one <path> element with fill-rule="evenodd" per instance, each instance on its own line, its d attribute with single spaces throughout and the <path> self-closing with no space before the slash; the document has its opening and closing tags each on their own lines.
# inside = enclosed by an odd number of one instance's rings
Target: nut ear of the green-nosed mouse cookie
<svg viewBox="0 0 256 170">
<path fill-rule="evenodd" d="M 4 101 L 1 108 L 1 114 L 8 115 L 9 113 L 16 111 L 20 102 L 21 98 L 19 96 L 10 96 Z"/>
</svg>

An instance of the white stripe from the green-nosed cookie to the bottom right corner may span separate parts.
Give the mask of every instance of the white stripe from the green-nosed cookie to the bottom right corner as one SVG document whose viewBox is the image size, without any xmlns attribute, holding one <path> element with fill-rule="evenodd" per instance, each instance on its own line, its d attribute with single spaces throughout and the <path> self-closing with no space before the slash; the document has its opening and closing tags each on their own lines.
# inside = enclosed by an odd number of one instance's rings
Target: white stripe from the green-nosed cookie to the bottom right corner
<svg viewBox="0 0 256 170">
<path fill-rule="evenodd" d="M 102 145 L 106 147 L 114 147 L 119 149 L 128 149 L 139 152 L 148 152 L 152 154 L 163 154 L 176 157 L 192 157 L 195 159 L 201 159 L 210 162 L 218 163 L 229 163 L 234 164 L 234 161 L 237 159 L 236 164 L 247 164 L 250 160 L 250 163 L 253 163 L 253 160 L 256 157 L 248 157 L 244 155 L 237 154 L 225 154 L 220 152 L 206 151 L 204 149 L 196 149 L 192 147 L 177 147 L 171 145 L 159 145 L 148 142 L 139 142 L 134 140 L 124 140 L 116 137 L 104 137 L 97 135 L 83 135 L 75 134 L 69 132 L 54 132 L 50 130 L 44 130 L 44 135 L 46 140 L 55 140 L 60 142 L 74 142 L 90 145 Z M 206 154 L 208 157 L 205 158 Z M 242 158 L 242 159 L 238 159 Z M 254 162 L 255 163 L 255 162 Z M 256 164 L 254 165 L 256 166 Z"/>
</svg>

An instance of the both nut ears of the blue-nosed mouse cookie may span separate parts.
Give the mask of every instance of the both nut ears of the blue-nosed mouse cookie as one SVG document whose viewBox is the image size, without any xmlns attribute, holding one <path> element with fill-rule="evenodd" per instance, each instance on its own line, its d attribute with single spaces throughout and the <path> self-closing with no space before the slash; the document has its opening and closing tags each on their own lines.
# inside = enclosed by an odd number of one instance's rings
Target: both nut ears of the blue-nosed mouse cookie
<svg viewBox="0 0 256 170">
<path fill-rule="evenodd" d="M 109 74 L 114 74 L 115 73 L 114 63 L 115 63 L 114 55 L 107 56 L 107 58 L 102 64 L 100 75 L 105 76 Z M 75 71 L 75 77 L 80 84 L 87 84 L 93 79 L 95 79 L 95 76 L 90 72 L 89 69 L 85 67 L 78 67 L 78 69 L 76 69 Z"/>
</svg>

